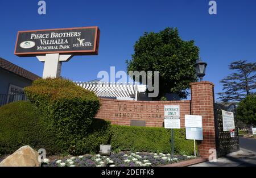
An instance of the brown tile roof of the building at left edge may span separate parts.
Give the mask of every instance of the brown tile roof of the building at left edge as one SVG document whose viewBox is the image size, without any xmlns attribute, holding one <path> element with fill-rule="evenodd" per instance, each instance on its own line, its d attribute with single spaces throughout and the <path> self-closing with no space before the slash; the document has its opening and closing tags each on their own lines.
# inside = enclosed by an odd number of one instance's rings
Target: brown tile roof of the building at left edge
<svg viewBox="0 0 256 178">
<path fill-rule="evenodd" d="M 26 69 L 23 69 L 18 65 L 11 63 L 10 61 L 2 59 L 1 57 L 0 57 L 0 68 L 6 69 L 7 71 L 13 72 L 15 74 L 18 74 L 19 76 L 22 76 L 32 81 L 36 80 L 37 78 L 40 78 L 36 74 L 30 71 L 27 71 Z"/>
</svg>

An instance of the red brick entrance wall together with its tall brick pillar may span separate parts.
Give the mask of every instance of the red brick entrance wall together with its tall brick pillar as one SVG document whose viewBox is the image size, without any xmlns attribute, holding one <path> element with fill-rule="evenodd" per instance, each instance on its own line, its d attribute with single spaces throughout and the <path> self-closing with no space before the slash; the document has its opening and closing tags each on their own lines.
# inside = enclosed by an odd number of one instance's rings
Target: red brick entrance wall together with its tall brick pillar
<svg viewBox="0 0 256 178">
<path fill-rule="evenodd" d="M 191 84 L 191 101 L 122 101 L 101 98 L 96 118 L 112 124 L 130 126 L 131 120 L 145 121 L 146 127 L 163 127 L 164 105 L 180 105 L 180 123 L 184 128 L 185 114 L 202 115 L 203 141 L 198 141 L 199 154 L 208 158 L 209 149 L 216 148 L 214 130 L 214 85 L 202 81 Z"/>
</svg>

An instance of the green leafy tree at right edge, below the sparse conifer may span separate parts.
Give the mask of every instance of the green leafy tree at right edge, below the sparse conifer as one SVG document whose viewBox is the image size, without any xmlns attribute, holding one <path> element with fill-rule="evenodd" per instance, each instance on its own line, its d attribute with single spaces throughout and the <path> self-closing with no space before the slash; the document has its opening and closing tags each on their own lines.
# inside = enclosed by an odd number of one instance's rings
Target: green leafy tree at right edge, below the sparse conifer
<svg viewBox="0 0 256 178">
<path fill-rule="evenodd" d="M 249 95 L 237 107 L 237 119 L 256 126 L 256 96 Z"/>
</svg>

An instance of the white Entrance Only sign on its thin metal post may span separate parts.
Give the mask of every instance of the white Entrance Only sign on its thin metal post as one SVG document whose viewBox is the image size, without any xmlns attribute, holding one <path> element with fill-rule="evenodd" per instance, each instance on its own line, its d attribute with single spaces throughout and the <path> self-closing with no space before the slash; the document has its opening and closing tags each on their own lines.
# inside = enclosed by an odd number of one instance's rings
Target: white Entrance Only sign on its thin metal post
<svg viewBox="0 0 256 178">
<path fill-rule="evenodd" d="M 174 129 L 180 129 L 180 105 L 164 105 L 164 128 L 171 129 L 171 157 L 174 157 Z"/>
</svg>

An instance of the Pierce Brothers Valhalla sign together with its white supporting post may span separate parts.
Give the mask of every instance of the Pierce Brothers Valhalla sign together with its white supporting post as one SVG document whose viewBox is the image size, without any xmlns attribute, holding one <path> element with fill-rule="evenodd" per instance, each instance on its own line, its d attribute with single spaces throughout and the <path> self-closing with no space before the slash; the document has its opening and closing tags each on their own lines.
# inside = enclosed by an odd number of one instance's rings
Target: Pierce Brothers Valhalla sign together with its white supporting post
<svg viewBox="0 0 256 178">
<path fill-rule="evenodd" d="M 43 78 L 60 77 L 61 63 L 75 55 L 97 55 L 98 27 L 19 31 L 14 54 L 44 62 Z"/>
</svg>

